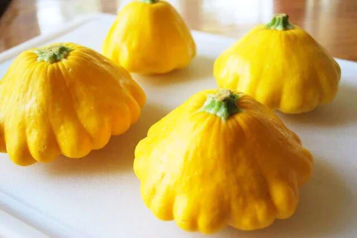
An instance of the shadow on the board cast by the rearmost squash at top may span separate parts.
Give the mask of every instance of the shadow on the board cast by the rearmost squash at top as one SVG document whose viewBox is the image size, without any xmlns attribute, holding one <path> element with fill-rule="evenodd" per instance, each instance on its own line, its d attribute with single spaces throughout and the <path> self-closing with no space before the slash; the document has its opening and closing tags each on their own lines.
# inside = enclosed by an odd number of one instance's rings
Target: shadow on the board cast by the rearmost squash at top
<svg viewBox="0 0 357 238">
<path fill-rule="evenodd" d="M 160 87 L 170 83 L 181 83 L 206 77 L 213 77 L 214 61 L 215 59 L 199 55 L 193 58 L 191 63 L 185 68 L 177 69 L 161 75 L 135 74 L 133 78 L 139 81 L 145 81 L 149 85 Z M 184 79 L 184 81 L 182 81 L 182 79 Z"/>
</svg>

